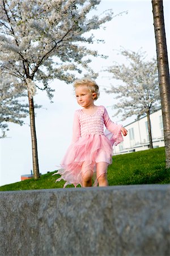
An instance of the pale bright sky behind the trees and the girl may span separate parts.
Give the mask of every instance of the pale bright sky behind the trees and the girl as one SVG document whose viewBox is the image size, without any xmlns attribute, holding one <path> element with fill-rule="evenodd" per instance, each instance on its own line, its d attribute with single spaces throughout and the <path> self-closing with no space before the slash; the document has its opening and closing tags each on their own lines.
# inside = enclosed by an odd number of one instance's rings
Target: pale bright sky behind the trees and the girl
<svg viewBox="0 0 170 256">
<path fill-rule="evenodd" d="M 164 0 L 163 5 L 167 48 L 170 49 L 170 0 Z M 156 57 L 152 4 L 151 0 L 103 0 L 97 7 L 96 14 L 100 15 L 108 9 L 112 9 L 115 15 L 126 11 L 128 14 L 115 16 L 110 22 L 104 24 L 105 30 L 101 28 L 93 31 L 95 38 L 104 39 L 105 43 L 95 43 L 88 47 L 108 56 L 107 59 L 92 58 L 91 67 L 99 73 L 96 82 L 100 87 L 100 97 L 95 104 L 104 105 L 113 122 L 125 126 L 134 121 L 135 117 L 123 122 L 120 121 L 120 117 L 113 118 L 115 113 L 112 108 L 113 94 L 104 92 L 104 88 L 109 88 L 113 80 L 111 74 L 104 72 L 104 69 L 111 66 L 113 61 L 119 64 L 125 62 L 125 59 L 118 55 L 121 47 L 130 51 L 141 49 L 146 52 L 148 60 Z M 71 142 L 74 112 L 79 109 L 72 85 L 59 80 L 54 80 L 50 85 L 56 90 L 53 103 L 50 103 L 45 92 L 38 92 L 34 97 L 35 103 L 42 105 L 41 109 L 36 109 L 37 147 L 41 174 L 59 168 L 59 163 Z M 0 140 L 0 185 L 20 181 L 21 175 L 31 174 L 32 149 L 29 118 L 24 121 L 23 126 L 10 123 L 7 137 Z"/>
</svg>

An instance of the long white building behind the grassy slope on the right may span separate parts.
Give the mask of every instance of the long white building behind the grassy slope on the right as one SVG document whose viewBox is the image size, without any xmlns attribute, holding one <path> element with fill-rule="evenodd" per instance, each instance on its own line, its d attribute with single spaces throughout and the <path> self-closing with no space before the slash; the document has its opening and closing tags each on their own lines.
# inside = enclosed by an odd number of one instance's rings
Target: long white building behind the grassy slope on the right
<svg viewBox="0 0 170 256">
<path fill-rule="evenodd" d="M 150 120 L 153 147 L 164 147 L 162 110 L 152 113 Z M 124 137 L 124 142 L 114 146 L 114 154 L 124 154 L 149 148 L 147 117 L 129 123 L 125 128 L 128 130 L 128 135 Z"/>
</svg>

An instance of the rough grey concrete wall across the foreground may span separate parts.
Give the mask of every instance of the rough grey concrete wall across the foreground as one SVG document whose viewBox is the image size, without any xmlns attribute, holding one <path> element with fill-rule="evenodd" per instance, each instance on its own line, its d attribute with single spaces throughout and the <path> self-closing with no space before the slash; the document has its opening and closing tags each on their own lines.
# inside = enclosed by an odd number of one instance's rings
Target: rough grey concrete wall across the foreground
<svg viewBox="0 0 170 256">
<path fill-rule="evenodd" d="M 0 192 L 0 255 L 168 256 L 169 185 Z"/>
</svg>

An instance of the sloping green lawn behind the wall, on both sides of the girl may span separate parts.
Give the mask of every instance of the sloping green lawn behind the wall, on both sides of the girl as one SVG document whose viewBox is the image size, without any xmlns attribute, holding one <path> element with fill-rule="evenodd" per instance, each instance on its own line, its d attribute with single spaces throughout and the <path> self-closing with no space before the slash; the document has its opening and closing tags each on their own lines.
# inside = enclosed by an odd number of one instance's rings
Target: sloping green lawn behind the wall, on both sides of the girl
<svg viewBox="0 0 170 256">
<path fill-rule="evenodd" d="M 41 175 L 39 180 L 29 179 L 3 185 L 0 191 L 62 188 L 65 181 L 55 183 L 59 177 L 52 176 L 55 172 Z M 164 147 L 113 156 L 113 163 L 108 167 L 108 181 L 109 185 L 170 183 L 170 169 L 165 169 Z"/>
</svg>

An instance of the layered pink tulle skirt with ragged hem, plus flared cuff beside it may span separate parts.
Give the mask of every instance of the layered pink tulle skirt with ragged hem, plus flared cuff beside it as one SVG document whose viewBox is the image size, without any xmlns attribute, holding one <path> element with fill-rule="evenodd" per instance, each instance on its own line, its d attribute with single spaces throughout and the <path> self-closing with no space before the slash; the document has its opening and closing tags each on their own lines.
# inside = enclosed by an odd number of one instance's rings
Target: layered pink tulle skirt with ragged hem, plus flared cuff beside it
<svg viewBox="0 0 170 256">
<path fill-rule="evenodd" d="M 111 164 L 113 144 L 117 145 L 121 141 L 123 141 L 121 131 L 117 135 L 113 135 L 107 130 L 105 134 L 88 134 L 80 137 L 67 149 L 61 162 L 61 169 L 56 173 L 60 174 L 61 177 L 56 181 L 65 180 L 64 187 L 68 184 L 74 184 L 75 187 L 78 184 L 82 186 L 84 172 L 91 170 L 95 176 L 97 163 L 106 162 Z M 85 163 L 85 166 L 83 163 Z M 107 170 L 104 172 L 107 172 Z M 94 185 L 97 185 L 97 178 L 95 178 Z"/>
</svg>

